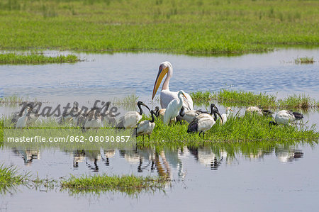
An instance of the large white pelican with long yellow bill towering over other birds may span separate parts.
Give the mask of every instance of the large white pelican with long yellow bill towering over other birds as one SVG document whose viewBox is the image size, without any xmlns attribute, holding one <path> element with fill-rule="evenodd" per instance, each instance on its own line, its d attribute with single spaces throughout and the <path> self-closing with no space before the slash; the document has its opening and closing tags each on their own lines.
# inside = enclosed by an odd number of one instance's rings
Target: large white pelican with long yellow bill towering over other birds
<svg viewBox="0 0 319 212">
<path fill-rule="evenodd" d="M 171 102 L 173 99 L 178 99 L 177 92 L 169 91 L 169 79 L 173 76 L 173 67 L 172 64 L 168 61 L 162 62 L 159 65 L 158 74 L 155 80 L 152 99 L 154 99 L 154 96 L 157 92 L 157 89 L 159 88 L 159 85 L 162 82 L 162 79 L 167 74 L 166 79 L 164 80 L 160 101 L 162 108 L 167 108 L 169 102 Z M 185 111 L 193 110 L 193 100 L 191 99 L 191 96 L 189 94 L 184 93 L 185 99 L 183 99 L 183 106 L 185 108 Z"/>
</svg>

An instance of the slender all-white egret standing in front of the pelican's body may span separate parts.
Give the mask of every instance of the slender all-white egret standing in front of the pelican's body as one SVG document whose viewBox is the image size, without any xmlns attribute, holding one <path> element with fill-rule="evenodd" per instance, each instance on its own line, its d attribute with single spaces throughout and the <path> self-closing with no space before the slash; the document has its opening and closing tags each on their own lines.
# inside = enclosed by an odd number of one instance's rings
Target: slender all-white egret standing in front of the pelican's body
<svg viewBox="0 0 319 212">
<path fill-rule="evenodd" d="M 166 108 L 164 114 L 164 124 L 169 124 L 173 118 L 179 116 L 179 110 L 181 109 L 181 106 L 183 106 L 183 99 L 181 96 L 184 96 L 187 99 L 184 91 L 179 91 L 177 96 L 178 99 L 173 99 L 171 102 L 169 102 Z"/>
</svg>

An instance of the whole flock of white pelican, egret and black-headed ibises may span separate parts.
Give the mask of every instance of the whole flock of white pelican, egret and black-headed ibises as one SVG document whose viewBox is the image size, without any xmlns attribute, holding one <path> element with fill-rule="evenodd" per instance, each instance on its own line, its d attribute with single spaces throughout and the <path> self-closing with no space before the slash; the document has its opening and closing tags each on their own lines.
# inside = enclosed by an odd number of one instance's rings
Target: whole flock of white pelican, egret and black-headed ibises
<svg viewBox="0 0 319 212">
<path fill-rule="evenodd" d="M 159 71 L 157 78 L 155 80 L 154 89 L 152 92 L 152 99 L 154 99 L 155 94 L 162 82 L 164 76 L 167 75 L 164 83 L 162 85 L 162 90 L 160 92 L 160 104 L 159 107 L 155 107 L 155 110 L 150 110 L 150 108 L 138 101 L 139 111 L 129 111 L 122 116 L 118 122 L 115 118 L 108 118 L 108 123 L 113 125 L 115 128 L 125 128 L 125 129 L 134 129 L 133 135 L 148 135 L 155 128 L 155 116 L 160 119 L 164 124 L 169 125 L 172 122 L 186 121 L 189 123 L 187 133 L 201 133 L 203 137 L 205 132 L 212 128 L 212 126 L 217 121 L 217 116 L 220 116 L 220 122 L 224 124 L 228 120 L 228 116 L 233 112 L 232 108 L 226 108 L 225 113 L 220 115 L 218 108 L 215 104 L 211 104 L 211 112 L 194 110 L 193 100 L 191 96 L 184 91 L 170 91 L 169 90 L 169 80 L 173 75 L 173 67 L 170 62 L 162 62 L 159 65 Z M 142 107 L 148 109 L 151 113 L 151 120 L 141 121 L 142 119 Z M 254 112 L 260 115 L 271 115 L 272 111 L 262 110 L 257 106 L 250 106 L 246 109 L 246 112 Z M 77 116 L 74 116 L 74 113 Z M 74 125 L 81 125 L 82 129 L 89 130 L 90 128 L 98 129 L 103 126 L 103 116 L 101 116 L 101 111 L 99 108 L 91 108 L 91 110 L 86 113 L 82 112 L 79 109 L 79 104 L 74 102 L 73 108 L 71 108 L 67 113 L 62 114 L 59 118 L 59 123 L 72 122 Z M 272 125 L 289 125 L 294 121 L 303 118 L 303 114 L 296 113 L 292 111 L 279 111 L 274 117 L 274 121 L 271 121 L 269 124 Z M 38 119 L 37 113 L 33 112 L 32 106 L 27 106 L 24 111 L 17 112 L 13 114 L 12 122 L 16 123 L 16 128 L 24 128 L 26 125 L 33 123 Z"/>
</svg>

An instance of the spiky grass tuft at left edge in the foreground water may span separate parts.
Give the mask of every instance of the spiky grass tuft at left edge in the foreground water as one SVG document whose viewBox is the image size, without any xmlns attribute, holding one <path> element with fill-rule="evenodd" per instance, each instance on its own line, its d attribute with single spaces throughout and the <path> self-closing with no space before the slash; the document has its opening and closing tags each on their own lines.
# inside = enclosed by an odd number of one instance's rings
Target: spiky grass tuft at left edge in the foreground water
<svg viewBox="0 0 319 212">
<path fill-rule="evenodd" d="M 27 180 L 28 175 L 18 174 L 16 167 L 0 164 L 0 194 L 5 194 L 18 185 L 26 184 Z"/>
</svg>

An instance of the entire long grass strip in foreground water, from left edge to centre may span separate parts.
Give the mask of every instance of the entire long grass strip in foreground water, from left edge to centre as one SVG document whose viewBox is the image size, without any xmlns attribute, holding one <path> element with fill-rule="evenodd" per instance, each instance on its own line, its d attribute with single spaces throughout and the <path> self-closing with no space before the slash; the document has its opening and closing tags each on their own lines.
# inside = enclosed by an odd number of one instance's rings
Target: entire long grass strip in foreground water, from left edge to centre
<svg viewBox="0 0 319 212">
<path fill-rule="evenodd" d="M 94 193 L 101 194 L 106 191 L 119 191 L 125 194 L 139 194 L 142 191 L 156 191 L 164 189 L 167 179 L 160 177 L 136 177 L 134 175 L 108 176 L 106 174 L 94 176 L 71 176 L 67 179 L 41 179 L 31 177 L 30 174 L 18 174 L 13 166 L 0 164 L 0 194 L 6 194 L 24 185 L 28 188 L 38 189 L 45 187 L 47 190 L 60 187 L 61 191 L 70 194 Z"/>
</svg>

